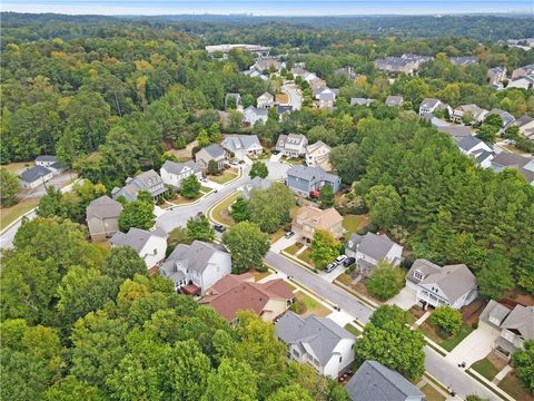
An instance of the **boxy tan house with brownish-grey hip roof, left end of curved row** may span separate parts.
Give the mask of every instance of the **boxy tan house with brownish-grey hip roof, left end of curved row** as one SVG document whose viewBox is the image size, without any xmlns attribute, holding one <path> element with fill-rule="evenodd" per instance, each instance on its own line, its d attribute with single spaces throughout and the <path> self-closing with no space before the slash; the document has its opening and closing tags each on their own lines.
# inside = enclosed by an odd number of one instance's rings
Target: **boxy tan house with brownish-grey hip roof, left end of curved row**
<svg viewBox="0 0 534 401">
<path fill-rule="evenodd" d="M 100 196 L 86 208 L 86 222 L 92 241 L 105 241 L 119 231 L 122 204 L 109 196 Z"/>
</svg>

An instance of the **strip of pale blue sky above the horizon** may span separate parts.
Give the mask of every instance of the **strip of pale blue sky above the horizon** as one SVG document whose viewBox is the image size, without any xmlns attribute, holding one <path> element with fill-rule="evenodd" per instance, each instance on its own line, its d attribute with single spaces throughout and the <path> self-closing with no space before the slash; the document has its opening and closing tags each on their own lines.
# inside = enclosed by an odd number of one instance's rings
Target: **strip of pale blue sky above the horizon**
<svg viewBox="0 0 534 401">
<path fill-rule="evenodd" d="M 342 16 L 533 13 L 534 0 L 1 0 L 2 11 L 68 14 Z"/>
</svg>

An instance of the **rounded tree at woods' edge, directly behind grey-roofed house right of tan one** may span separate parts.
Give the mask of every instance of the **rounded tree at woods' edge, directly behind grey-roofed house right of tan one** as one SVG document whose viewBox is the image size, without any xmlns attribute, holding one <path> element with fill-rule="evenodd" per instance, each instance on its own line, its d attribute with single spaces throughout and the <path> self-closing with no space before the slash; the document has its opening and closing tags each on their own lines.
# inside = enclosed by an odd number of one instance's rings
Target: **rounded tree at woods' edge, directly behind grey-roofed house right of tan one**
<svg viewBox="0 0 534 401">
<path fill-rule="evenodd" d="M 390 228 L 400 216 L 402 199 L 390 185 L 376 185 L 364 197 L 373 223 Z"/>
</svg>

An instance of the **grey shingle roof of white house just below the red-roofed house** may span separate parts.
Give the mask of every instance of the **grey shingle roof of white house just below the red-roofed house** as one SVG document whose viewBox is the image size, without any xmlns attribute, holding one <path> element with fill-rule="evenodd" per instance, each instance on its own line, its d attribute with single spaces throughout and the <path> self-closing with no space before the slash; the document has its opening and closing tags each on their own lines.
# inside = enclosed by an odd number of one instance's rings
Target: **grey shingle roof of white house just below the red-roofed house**
<svg viewBox="0 0 534 401">
<path fill-rule="evenodd" d="M 334 354 L 339 341 L 356 338 L 333 320 L 310 314 L 301 317 L 287 311 L 276 323 L 276 335 L 286 344 L 308 345 L 322 365 Z"/>
</svg>

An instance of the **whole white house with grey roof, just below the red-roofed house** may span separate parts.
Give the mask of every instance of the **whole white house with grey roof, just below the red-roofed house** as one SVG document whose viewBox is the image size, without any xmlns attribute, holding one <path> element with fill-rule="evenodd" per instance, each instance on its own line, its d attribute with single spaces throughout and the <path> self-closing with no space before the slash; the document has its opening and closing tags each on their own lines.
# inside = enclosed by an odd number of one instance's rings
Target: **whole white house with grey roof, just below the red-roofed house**
<svg viewBox="0 0 534 401">
<path fill-rule="evenodd" d="M 308 363 L 319 374 L 337 379 L 354 362 L 356 338 L 330 319 L 287 311 L 275 327 L 289 359 Z"/>
</svg>

